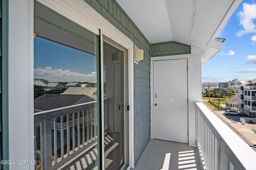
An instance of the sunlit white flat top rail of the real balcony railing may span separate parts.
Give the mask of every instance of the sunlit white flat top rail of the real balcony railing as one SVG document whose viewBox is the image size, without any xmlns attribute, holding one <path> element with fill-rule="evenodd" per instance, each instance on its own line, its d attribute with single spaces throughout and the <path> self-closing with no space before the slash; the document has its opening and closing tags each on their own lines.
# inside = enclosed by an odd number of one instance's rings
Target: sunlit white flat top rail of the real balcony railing
<svg viewBox="0 0 256 170">
<path fill-rule="evenodd" d="M 205 122 L 210 128 L 213 128 L 213 133 L 217 133 L 215 135 L 233 152 L 243 167 L 245 169 L 255 169 L 256 152 L 203 103 L 196 103 L 196 107 L 204 117 Z"/>
</svg>

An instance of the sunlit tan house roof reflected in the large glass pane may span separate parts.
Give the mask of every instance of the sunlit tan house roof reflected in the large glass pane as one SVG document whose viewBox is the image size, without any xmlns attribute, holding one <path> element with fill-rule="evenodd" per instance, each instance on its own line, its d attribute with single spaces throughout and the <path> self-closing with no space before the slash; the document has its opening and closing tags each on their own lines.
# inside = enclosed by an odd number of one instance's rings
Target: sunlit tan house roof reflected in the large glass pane
<svg viewBox="0 0 256 170">
<path fill-rule="evenodd" d="M 96 90 L 96 87 L 69 87 L 61 95 L 86 95 L 92 99 L 97 99 Z"/>
</svg>

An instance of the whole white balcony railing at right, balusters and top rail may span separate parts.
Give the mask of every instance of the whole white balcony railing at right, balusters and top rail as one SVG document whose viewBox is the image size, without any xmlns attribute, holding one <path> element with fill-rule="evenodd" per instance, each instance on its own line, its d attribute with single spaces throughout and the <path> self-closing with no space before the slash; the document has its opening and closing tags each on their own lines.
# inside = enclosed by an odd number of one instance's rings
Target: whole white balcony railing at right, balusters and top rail
<svg viewBox="0 0 256 170">
<path fill-rule="evenodd" d="M 196 103 L 196 140 L 204 169 L 256 169 L 256 152 L 203 103 Z"/>
</svg>

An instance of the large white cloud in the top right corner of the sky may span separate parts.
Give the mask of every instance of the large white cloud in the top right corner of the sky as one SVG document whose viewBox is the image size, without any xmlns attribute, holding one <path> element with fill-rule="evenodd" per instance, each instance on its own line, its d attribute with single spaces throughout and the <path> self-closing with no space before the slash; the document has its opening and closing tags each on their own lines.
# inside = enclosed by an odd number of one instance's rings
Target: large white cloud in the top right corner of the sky
<svg viewBox="0 0 256 170">
<path fill-rule="evenodd" d="M 238 18 L 243 29 L 239 30 L 236 36 L 242 37 L 246 33 L 256 32 L 256 25 L 253 22 L 256 19 L 256 4 L 243 3 L 243 11 L 238 12 Z"/>
</svg>

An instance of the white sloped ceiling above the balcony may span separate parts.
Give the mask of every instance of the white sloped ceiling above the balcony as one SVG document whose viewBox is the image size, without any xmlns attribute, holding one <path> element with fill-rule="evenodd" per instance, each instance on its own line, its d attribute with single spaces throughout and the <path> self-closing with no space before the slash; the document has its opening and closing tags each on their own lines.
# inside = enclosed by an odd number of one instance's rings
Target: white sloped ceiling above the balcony
<svg viewBox="0 0 256 170">
<path fill-rule="evenodd" d="M 204 48 L 210 40 L 218 36 L 241 0 L 117 0 L 117 2 L 151 44 L 178 41 Z"/>
</svg>

